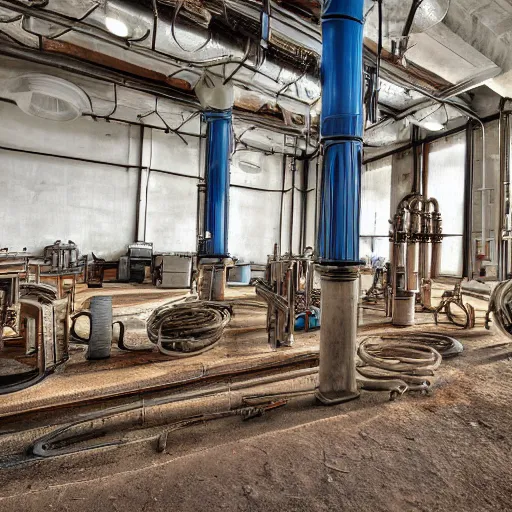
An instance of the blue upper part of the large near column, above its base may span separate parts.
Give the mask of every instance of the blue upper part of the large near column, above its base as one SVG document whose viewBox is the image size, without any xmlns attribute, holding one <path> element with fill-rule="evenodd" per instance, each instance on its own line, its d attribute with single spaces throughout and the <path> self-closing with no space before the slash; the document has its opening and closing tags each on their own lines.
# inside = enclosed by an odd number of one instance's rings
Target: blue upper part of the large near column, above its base
<svg viewBox="0 0 512 512">
<path fill-rule="evenodd" d="M 322 13 L 324 145 L 318 252 L 324 264 L 359 263 L 364 0 L 326 0 Z"/>
</svg>

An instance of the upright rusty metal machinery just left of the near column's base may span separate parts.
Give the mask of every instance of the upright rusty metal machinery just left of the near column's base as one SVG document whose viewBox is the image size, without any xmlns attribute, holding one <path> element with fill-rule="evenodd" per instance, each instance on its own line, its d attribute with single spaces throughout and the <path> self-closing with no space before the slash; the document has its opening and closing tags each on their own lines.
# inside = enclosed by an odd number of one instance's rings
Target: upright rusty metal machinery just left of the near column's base
<svg viewBox="0 0 512 512">
<path fill-rule="evenodd" d="M 314 289 L 311 256 L 279 256 L 277 244 L 269 256 L 265 280 L 256 293 L 268 304 L 267 332 L 272 349 L 291 346 L 296 328 L 320 326 L 320 293 Z"/>
</svg>

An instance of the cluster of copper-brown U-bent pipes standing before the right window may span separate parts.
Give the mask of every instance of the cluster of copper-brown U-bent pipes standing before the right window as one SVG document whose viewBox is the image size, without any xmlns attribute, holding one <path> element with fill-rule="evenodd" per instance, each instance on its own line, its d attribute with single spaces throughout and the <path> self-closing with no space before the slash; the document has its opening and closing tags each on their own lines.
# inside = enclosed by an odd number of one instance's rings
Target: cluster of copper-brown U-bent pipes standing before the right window
<svg viewBox="0 0 512 512">
<path fill-rule="evenodd" d="M 386 293 L 386 315 L 393 325 L 413 325 L 417 294 L 431 310 L 431 279 L 439 275 L 442 220 L 434 198 L 411 193 L 399 203 L 390 232 L 391 282 Z"/>
</svg>

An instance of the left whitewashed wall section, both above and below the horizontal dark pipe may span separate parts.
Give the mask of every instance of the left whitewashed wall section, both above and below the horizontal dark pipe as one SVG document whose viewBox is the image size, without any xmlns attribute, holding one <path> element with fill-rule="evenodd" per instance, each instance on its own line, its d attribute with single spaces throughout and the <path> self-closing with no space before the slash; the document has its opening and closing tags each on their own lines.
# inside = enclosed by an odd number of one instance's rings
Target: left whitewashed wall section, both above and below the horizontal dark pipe
<svg viewBox="0 0 512 512">
<path fill-rule="evenodd" d="M 0 105 L 0 146 L 131 164 L 129 126 L 79 119 L 55 123 Z M 83 253 L 111 258 L 135 233 L 134 169 L 0 150 L 0 246 L 40 252 L 71 239 Z"/>
</svg>

